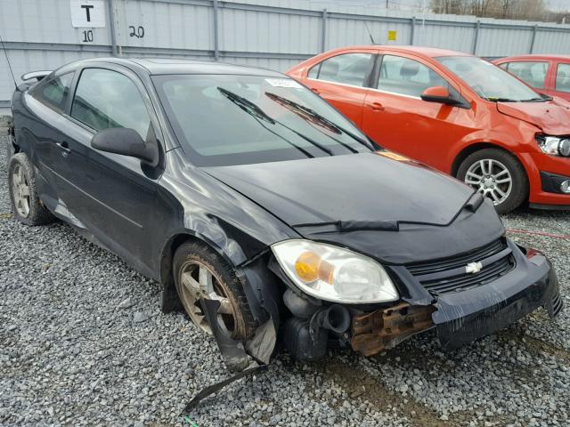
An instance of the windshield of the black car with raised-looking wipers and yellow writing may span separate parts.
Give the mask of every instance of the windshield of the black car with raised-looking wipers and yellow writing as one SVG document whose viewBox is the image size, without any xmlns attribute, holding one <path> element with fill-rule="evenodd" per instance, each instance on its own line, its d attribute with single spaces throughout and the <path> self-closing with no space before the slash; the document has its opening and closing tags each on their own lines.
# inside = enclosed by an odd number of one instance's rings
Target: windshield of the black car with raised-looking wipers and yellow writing
<svg viewBox="0 0 570 427">
<path fill-rule="evenodd" d="M 317 95 L 288 77 L 156 76 L 192 164 L 244 165 L 377 149 Z"/>
</svg>

